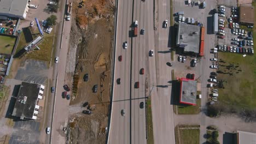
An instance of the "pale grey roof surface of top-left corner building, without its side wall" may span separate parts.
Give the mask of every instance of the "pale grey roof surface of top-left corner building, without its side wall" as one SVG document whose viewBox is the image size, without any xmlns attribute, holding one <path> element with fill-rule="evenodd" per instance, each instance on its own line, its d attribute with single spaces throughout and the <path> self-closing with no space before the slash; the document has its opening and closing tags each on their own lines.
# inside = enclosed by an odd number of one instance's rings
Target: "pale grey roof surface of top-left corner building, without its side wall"
<svg viewBox="0 0 256 144">
<path fill-rule="evenodd" d="M 1 0 L 0 13 L 24 15 L 27 2 L 28 0 Z"/>
</svg>

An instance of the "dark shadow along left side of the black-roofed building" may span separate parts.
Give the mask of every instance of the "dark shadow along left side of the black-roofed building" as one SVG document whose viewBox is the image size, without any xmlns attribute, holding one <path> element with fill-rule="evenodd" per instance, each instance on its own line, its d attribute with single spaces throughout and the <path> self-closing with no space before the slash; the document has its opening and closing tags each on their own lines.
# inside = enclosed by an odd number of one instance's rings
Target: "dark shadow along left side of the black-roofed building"
<svg viewBox="0 0 256 144">
<path fill-rule="evenodd" d="M 16 99 L 18 97 L 20 86 L 21 85 L 15 85 L 14 88 L 13 88 L 13 93 L 11 94 L 10 103 L 9 103 L 8 109 L 5 113 L 5 118 L 11 118 L 11 119 L 14 119 L 14 120 L 16 119 L 16 117 L 13 117 L 11 115 L 13 114 L 13 110 L 14 110 L 14 106 L 15 106 L 15 103 L 16 103 Z"/>
</svg>

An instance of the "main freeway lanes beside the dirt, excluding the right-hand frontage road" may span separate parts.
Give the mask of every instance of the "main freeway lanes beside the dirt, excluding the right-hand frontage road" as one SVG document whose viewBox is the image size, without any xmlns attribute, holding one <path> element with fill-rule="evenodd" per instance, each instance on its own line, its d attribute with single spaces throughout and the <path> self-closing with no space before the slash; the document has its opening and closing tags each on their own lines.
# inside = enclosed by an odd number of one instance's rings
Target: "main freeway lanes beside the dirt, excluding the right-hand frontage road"
<svg viewBox="0 0 256 144">
<path fill-rule="evenodd" d="M 138 21 L 138 36 L 132 35 L 132 23 Z M 146 143 L 146 113 L 139 104 L 145 103 L 146 76 L 148 75 L 149 50 L 154 50 L 153 1 L 119 1 L 116 43 L 115 77 L 112 117 L 108 143 Z M 141 29 L 145 34 L 140 34 Z M 123 49 L 127 41 L 128 48 Z M 123 60 L 118 61 L 122 56 Z M 144 75 L 139 74 L 144 68 Z M 139 82 L 139 88 L 135 83 Z M 125 109 L 125 116 L 121 110 Z"/>
</svg>

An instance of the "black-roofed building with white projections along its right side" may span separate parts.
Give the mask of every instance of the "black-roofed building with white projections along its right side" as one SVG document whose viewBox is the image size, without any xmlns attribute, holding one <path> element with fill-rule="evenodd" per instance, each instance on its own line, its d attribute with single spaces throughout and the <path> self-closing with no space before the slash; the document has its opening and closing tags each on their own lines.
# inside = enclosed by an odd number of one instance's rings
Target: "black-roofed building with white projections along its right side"
<svg viewBox="0 0 256 144">
<path fill-rule="evenodd" d="M 12 116 L 20 119 L 37 119 L 39 99 L 43 98 L 44 86 L 22 82 Z"/>
</svg>

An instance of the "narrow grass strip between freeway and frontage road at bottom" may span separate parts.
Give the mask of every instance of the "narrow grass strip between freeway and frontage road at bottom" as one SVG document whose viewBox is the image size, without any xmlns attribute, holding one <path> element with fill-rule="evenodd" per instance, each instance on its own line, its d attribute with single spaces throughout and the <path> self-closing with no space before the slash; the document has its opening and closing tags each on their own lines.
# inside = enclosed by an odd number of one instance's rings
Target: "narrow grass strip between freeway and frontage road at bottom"
<svg viewBox="0 0 256 144">
<path fill-rule="evenodd" d="M 151 100 L 148 99 L 146 101 L 147 106 L 147 131 L 148 131 L 148 144 L 154 143 L 154 135 L 153 135 L 153 122 L 152 122 L 152 110 L 151 110 Z"/>
</svg>

